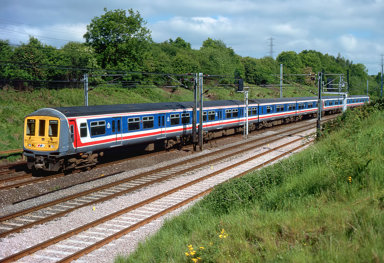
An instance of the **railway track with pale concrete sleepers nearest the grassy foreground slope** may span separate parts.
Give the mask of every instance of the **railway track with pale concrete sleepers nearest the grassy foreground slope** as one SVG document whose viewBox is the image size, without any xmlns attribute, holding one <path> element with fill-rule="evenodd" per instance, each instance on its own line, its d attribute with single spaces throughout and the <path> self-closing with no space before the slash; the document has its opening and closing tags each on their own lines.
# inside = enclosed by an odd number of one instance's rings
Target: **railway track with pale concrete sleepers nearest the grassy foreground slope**
<svg viewBox="0 0 384 263">
<path fill-rule="evenodd" d="M 313 132 L 314 129 L 311 129 L 311 132 Z M 297 133 L 303 132 L 301 130 Z M 310 134 L 313 135 L 311 132 Z M 290 155 L 311 143 L 313 138 L 310 136 L 312 135 L 306 136 L 305 141 L 303 141 L 303 136 L 295 136 L 294 134 L 281 136 L 280 138 L 268 136 L 269 138 L 259 138 L 258 142 L 247 142 L 249 143 L 248 145 L 243 143 L 237 149 L 230 147 L 225 154 L 224 151 L 215 151 L 214 155 L 216 154 L 216 157 L 210 155 L 199 156 L 200 159 L 197 158 L 194 162 L 196 162 L 195 166 L 199 166 L 200 170 L 207 165 L 214 164 L 216 166 L 218 163 L 223 168 L 213 172 L 210 169 L 204 169 L 204 171 L 201 171 L 204 172 L 204 175 L 197 179 L 150 198 L 143 198 L 134 205 L 80 225 L 55 237 L 48 238 L 48 240 L 45 237 L 45 233 L 41 233 L 42 237 L 39 239 L 45 239 L 44 241 L 36 241 L 33 245 L 19 244 L 16 248 L 17 253 L 2 255 L 6 257 L 1 259 L 0 262 L 5 263 L 21 259 L 22 262 L 36 262 L 36 260 L 39 260 L 41 262 L 64 263 L 71 262 L 74 259 L 79 259 L 76 262 L 88 262 L 88 260 L 95 257 L 99 259 L 99 256 L 102 256 L 104 251 L 108 250 L 106 244 L 113 242 L 114 239 L 120 237 L 131 238 L 135 235 L 132 232 L 133 230 L 139 227 L 146 227 L 145 225 L 151 224 L 150 222 L 153 219 L 161 217 L 169 211 L 182 207 L 188 202 L 210 192 L 218 183 L 242 176 L 267 163 Z M 288 142 L 281 142 L 282 140 L 287 140 L 287 138 L 290 139 Z M 265 146 L 265 144 L 271 146 L 269 148 L 260 148 L 260 146 Z M 245 154 L 246 151 L 248 152 L 247 155 Z M 230 161 L 230 156 L 237 156 L 237 159 Z M 205 163 L 202 163 L 204 158 L 206 159 Z M 175 171 L 172 173 L 182 173 L 185 169 L 192 171 L 189 170 L 190 168 L 184 168 L 184 170 L 180 171 L 177 171 L 176 168 L 173 169 Z M 123 237 L 124 235 L 125 237 Z M 100 249 L 95 250 L 96 248 Z M 90 254 L 83 256 L 87 253 Z"/>
</svg>

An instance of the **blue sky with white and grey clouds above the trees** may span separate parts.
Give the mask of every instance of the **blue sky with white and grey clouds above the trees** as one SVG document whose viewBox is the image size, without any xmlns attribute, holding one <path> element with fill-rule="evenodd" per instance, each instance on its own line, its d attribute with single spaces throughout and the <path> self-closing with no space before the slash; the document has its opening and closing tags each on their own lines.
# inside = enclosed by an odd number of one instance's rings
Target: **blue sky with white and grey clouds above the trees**
<svg viewBox="0 0 384 263">
<path fill-rule="evenodd" d="M 314 49 L 381 72 L 384 0 L 0 0 L 0 39 L 35 36 L 57 48 L 84 42 L 86 25 L 107 10 L 138 11 L 152 39 L 180 37 L 199 49 L 220 39 L 240 56 Z M 271 46 L 273 38 L 273 46 Z"/>
</svg>

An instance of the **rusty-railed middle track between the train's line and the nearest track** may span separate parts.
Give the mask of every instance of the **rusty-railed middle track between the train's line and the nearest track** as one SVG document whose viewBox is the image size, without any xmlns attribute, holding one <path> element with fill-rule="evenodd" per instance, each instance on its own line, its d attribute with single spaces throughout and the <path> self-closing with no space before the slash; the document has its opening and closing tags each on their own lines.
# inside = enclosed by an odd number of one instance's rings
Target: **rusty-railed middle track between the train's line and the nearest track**
<svg viewBox="0 0 384 263">
<path fill-rule="evenodd" d="M 142 187 L 181 176 L 182 174 L 193 173 L 193 171 L 202 169 L 204 166 L 212 166 L 228 161 L 228 159 L 233 158 L 233 156 L 245 154 L 265 145 L 269 146 L 271 143 L 283 138 L 288 138 L 294 134 L 303 133 L 305 130 L 311 129 L 314 126 L 314 124 L 308 124 L 300 128 L 293 128 L 288 131 L 256 138 L 239 145 L 217 150 L 195 158 L 189 158 L 179 163 L 130 176 L 103 186 L 4 215 L 0 217 L 0 237 L 5 237 L 10 233 L 20 232 L 36 224 L 48 222 L 81 207 L 103 202 Z M 302 140 L 302 137 L 299 137 L 297 140 Z"/>
</svg>

